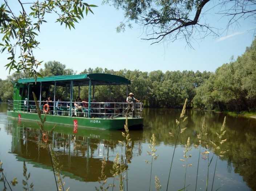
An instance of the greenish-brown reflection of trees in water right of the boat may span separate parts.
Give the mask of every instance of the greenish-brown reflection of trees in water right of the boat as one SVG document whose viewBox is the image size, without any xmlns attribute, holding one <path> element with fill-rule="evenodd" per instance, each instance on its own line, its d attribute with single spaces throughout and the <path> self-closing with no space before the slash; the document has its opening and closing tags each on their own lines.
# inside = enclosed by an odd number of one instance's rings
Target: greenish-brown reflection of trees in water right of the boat
<svg viewBox="0 0 256 191">
<path fill-rule="evenodd" d="M 175 120 L 179 119 L 180 110 L 168 109 L 145 109 L 147 127 L 143 131 L 143 139 L 150 140 L 152 134 L 156 137 L 156 144 L 174 145 L 175 140 L 169 135 L 169 132 L 175 132 Z M 188 137 L 190 142 L 198 144 L 196 135 L 199 134 L 203 119 L 206 118 L 206 124 L 209 130 L 209 138 L 216 142 L 219 128 L 222 126 L 223 119 L 226 116 L 227 132 L 225 138 L 227 141 L 222 145 L 223 150 L 228 152 L 222 157 L 227 160 L 227 171 L 243 176 L 244 181 L 252 190 L 256 190 L 256 120 L 248 118 L 233 118 L 224 113 L 214 113 L 211 111 L 187 110 L 187 127 L 179 136 L 179 144 L 185 145 Z M 183 127 L 183 128 L 184 128 Z"/>
</svg>

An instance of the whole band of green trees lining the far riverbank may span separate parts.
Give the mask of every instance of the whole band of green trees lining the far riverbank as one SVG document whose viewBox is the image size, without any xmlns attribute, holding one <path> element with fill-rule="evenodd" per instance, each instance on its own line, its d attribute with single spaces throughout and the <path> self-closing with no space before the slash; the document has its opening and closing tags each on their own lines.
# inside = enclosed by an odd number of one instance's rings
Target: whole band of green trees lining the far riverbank
<svg viewBox="0 0 256 191">
<path fill-rule="evenodd" d="M 77 74 L 73 69 L 66 69 L 58 61 L 45 63 L 40 69 L 43 76 Z M 126 77 L 132 81 L 129 92 L 141 100 L 146 107 L 182 108 L 187 98 L 187 108 L 198 108 L 215 111 L 229 111 L 236 114 L 255 112 L 256 109 L 256 39 L 244 54 L 236 60 L 231 58 L 215 72 L 200 71 L 130 71 L 127 69 L 114 71 L 107 68 L 84 69 L 82 73 L 111 73 Z M 28 77 L 24 73 L 14 73 L 6 80 L 0 79 L 0 98 L 2 101 L 12 99 L 12 81 Z M 106 87 L 97 87 L 97 101 L 108 99 Z M 58 89 L 58 96 L 65 90 Z M 119 102 L 126 99 L 126 87 L 113 87 L 111 97 Z M 77 96 L 78 89 L 74 96 Z M 53 97 L 53 94 L 52 94 Z M 88 97 L 88 88 L 80 89 L 80 97 Z"/>
</svg>

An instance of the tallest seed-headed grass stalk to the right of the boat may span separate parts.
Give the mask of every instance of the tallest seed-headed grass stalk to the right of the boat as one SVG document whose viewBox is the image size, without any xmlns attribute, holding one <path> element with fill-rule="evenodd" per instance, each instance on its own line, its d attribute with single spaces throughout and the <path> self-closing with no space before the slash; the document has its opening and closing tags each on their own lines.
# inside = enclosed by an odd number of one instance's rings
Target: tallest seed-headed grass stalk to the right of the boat
<svg viewBox="0 0 256 191">
<path fill-rule="evenodd" d="M 179 121 L 176 119 L 176 124 L 178 126 L 178 132 L 177 132 L 177 135 L 176 135 L 176 141 L 175 141 L 174 150 L 173 150 L 173 153 L 172 153 L 171 166 L 170 166 L 170 170 L 169 170 L 166 191 L 168 190 L 168 184 L 169 184 L 170 175 L 171 175 L 171 167 L 172 167 L 172 162 L 173 162 L 173 158 L 174 158 L 175 149 L 176 149 L 176 146 L 177 146 L 178 137 L 179 137 L 180 133 L 182 133 L 182 132 L 184 132 L 184 130 L 186 130 L 186 128 L 181 128 L 181 123 L 184 122 L 187 119 L 187 117 L 185 117 L 186 106 L 187 106 L 187 99 L 186 99 L 186 101 L 184 103 L 184 106 L 183 106 L 183 109 L 181 111 L 181 114 L 180 114 L 180 117 L 179 117 Z M 169 132 L 169 134 L 171 136 L 173 136 L 172 132 Z"/>
</svg>

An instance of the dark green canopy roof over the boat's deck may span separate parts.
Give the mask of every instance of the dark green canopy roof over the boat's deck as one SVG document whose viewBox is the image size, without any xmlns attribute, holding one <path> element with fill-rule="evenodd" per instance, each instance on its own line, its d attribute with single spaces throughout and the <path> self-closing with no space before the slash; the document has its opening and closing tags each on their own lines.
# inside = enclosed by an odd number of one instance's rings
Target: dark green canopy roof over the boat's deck
<svg viewBox="0 0 256 191">
<path fill-rule="evenodd" d="M 36 80 L 34 78 L 20 79 L 20 84 L 42 82 L 43 84 L 56 85 L 57 86 L 70 86 L 73 80 L 73 86 L 89 86 L 91 85 L 125 85 L 131 84 L 131 81 L 122 76 L 116 76 L 106 73 L 91 73 L 80 75 L 67 75 L 67 76 L 50 76 L 40 78 Z"/>
</svg>

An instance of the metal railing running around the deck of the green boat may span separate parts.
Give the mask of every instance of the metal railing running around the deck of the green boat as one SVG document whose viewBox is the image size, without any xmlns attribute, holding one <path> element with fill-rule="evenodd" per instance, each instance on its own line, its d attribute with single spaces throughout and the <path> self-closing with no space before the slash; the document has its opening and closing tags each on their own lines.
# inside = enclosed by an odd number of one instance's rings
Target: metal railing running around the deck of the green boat
<svg viewBox="0 0 256 191">
<path fill-rule="evenodd" d="M 40 102 L 38 101 L 38 105 Z M 87 118 L 116 118 L 116 117 L 124 117 L 126 114 L 128 117 L 133 118 L 141 118 L 143 111 L 143 103 L 142 102 L 93 102 L 94 106 L 90 107 L 90 111 L 86 104 L 82 102 L 80 103 L 80 109 L 74 106 L 75 102 L 72 102 L 72 111 L 70 112 L 70 107 L 67 101 L 62 102 L 62 106 L 59 107 L 60 110 L 57 110 L 56 106 L 54 106 L 52 102 L 49 104 L 46 101 L 41 101 L 40 110 L 41 113 L 45 113 L 44 105 L 49 105 L 49 111 L 47 114 L 57 115 L 58 111 L 61 112 L 61 115 L 64 116 L 77 116 L 77 117 L 87 117 Z M 92 103 L 91 103 L 92 104 Z M 109 105 L 109 107 L 106 107 Z M 85 106 L 85 107 L 84 107 Z M 28 102 L 28 107 L 25 106 L 24 101 L 22 100 L 9 100 L 8 102 L 8 110 L 15 112 L 24 112 L 24 113 L 37 113 L 36 104 L 34 101 Z"/>
</svg>

